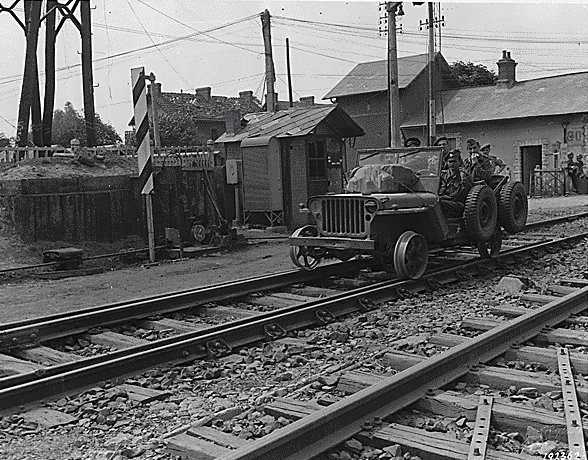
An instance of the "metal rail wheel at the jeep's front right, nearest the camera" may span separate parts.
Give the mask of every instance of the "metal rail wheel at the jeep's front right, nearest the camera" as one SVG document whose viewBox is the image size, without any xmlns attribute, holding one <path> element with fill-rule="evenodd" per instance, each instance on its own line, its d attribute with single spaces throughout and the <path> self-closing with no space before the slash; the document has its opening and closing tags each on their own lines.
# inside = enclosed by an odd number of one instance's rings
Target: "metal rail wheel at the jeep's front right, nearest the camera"
<svg viewBox="0 0 588 460">
<path fill-rule="evenodd" d="M 404 232 L 394 246 L 394 270 L 403 279 L 419 279 L 427 269 L 429 248 L 420 233 Z"/>
</svg>

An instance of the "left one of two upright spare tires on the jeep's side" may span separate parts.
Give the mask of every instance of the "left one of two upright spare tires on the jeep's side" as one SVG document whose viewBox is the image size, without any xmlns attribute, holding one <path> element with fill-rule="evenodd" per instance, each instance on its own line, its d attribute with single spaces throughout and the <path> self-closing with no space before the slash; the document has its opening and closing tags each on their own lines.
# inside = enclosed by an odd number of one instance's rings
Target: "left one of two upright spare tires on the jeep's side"
<svg viewBox="0 0 588 460">
<path fill-rule="evenodd" d="M 489 240 L 498 221 L 498 205 L 487 185 L 474 185 L 465 202 L 463 218 L 467 234 L 475 241 Z"/>
</svg>

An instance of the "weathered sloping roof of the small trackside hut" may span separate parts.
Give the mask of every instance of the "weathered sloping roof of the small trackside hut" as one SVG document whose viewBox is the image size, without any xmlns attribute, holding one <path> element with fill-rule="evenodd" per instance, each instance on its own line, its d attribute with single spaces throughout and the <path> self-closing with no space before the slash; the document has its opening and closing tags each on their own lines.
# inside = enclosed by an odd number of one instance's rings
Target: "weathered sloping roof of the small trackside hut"
<svg viewBox="0 0 588 460">
<path fill-rule="evenodd" d="M 342 138 L 363 136 L 361 127 L 337 104 L 291 108 L 278 112 L 245 115 L 246 125 L 236 134 L 224 133 L 215 143 L 237 142 L 255 137 L 297 137 L 309 134 L 326 120 Z"/>
</svg>

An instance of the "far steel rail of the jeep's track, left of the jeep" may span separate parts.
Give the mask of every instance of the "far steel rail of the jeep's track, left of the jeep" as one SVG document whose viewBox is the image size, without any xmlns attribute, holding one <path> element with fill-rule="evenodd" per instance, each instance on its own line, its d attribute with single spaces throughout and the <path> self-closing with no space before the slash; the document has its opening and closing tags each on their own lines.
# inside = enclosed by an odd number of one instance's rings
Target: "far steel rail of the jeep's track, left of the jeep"
<svg viewBox="0 0 588 460">
<path fill-rule="evenodd" d="M 170 292 L 141 299 L 100 305 L 66 312 L 49 317 L 0 325 L 0 350 L 34 345 L 42 341 L 85 332 L 98 325 L 120 323 L 155 314 L 170 313 L 218 302 L 232 297 L 270 290 L 292 283 L 301 283 L 321 277 L 339 275 L 373 265 L 371 260 L 353 260 L 319 267 L 310 272 L 289 270 L 274 275 L 262 275 L 238 281 L 229 281 L 209 287 Z"/>
</svg>

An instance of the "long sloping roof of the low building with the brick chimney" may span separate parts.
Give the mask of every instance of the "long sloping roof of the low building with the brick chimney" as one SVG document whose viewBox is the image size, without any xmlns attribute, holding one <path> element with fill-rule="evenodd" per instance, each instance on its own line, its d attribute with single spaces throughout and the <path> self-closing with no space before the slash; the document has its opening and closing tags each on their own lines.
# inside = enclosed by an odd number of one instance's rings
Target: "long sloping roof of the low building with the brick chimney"
<svg viewBox="0 0 588 460">
<path fill-rule="evenodd" d="M 443 123 L 562 115 L 588 112 L 588 72 L 516 82 L 510 89 L 497 86 L 460 88 L 440 93 Z M 439 98 L 437 98 L 439 102 Z M 441 116 L 441 107 L 437 103 Z M 415 114 L 403 127 L 423 126 L 426 118 Z"/>
</svg>

